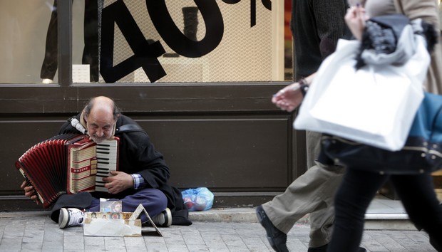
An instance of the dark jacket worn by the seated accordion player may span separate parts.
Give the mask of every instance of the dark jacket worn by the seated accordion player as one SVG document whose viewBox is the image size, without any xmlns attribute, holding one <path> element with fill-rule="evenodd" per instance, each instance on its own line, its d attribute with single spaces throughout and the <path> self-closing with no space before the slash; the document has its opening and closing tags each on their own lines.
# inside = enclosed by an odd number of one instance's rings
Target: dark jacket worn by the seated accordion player
<svg viewBox="0 0 442 252">
<path fill-rule="evenodd" d="M 77 115 L 76 119 L 80 120 L 80 115 Z M 128 129 L 128 127 L 125 126 L 126 129 L 124 129 L 125 127 L 122 127 L 123 125 L 133 125 L 133 127 L 129 127 Z M 68 120 L 68 122 L 61 126 L 58 134 L 71 132 L 78 132 L 78 130 L 71 125 L 71 120 Z M 115 137 L 120 138 L 118 170 L 128 174 L 138 173 L 145 179 L 145 188 L 155 188 L 163 191 L 168 198 L 168 208 L 172 211 L 173 225 L 192 224 L 192 222 L 188 220 L 189 213 L 184 204 L 181 191 L 168 184 L 170 171 L 169 167 L 165 164 L 163 154 L 155 150 L 148 134 L 130 117 L 120 115 L 116 123 Z M 135 192 L 135 189 L 127 189 L 119 194 L 108 194 L 97 191 L 91 194 L 96 198 L 122 199 L 125 196 L 133 194 L 133 192 Z M 58 211 L 60 207 L 75 207 L 66 206 L 66 201 L 71 202 L 71 199 L 66 197 L 65 200 L 63 196 L 61 196 L 55 206 L 53 206 L 53 211 Z M 86 198 L 90 198 L 90 196 L 81 194 L 78 194 L 76 197 L 76 201 L 85 201 Z M 88 204 L 86 202 L 83 204 L 86 204 L 84 207 L 87 208 Z M 80 204 L 80 206 L 83 205 Z"/>
</svg>

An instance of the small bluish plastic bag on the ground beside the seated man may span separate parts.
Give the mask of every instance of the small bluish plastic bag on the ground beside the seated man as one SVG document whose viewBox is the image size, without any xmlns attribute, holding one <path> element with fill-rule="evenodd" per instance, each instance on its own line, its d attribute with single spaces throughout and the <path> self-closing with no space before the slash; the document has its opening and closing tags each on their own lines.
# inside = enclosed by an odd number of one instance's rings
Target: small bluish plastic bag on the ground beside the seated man
<svg viewBox="0 0 442 252">
<path fill-rule="evenodd" d="M 205 211 L 212 208 L 213 194 L 207 187 L 182 191 L 184 204 L 189 211 Z"/>
</svg>

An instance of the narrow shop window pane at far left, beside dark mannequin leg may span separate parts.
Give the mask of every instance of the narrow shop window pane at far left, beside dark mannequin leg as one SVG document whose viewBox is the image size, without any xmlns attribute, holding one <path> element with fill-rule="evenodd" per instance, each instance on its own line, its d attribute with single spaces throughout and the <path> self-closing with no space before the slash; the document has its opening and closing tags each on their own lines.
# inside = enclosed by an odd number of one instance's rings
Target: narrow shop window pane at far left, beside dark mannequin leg
<svg viewBox="0 0 442 252">
<path fill-rule="evenodd" d="M 51 13 L 56 13 L 52 1 L 0 0 L 0 83 L 42 82 Z M 50 68 L 56 70 L 56 63 Z"/>
</svg>

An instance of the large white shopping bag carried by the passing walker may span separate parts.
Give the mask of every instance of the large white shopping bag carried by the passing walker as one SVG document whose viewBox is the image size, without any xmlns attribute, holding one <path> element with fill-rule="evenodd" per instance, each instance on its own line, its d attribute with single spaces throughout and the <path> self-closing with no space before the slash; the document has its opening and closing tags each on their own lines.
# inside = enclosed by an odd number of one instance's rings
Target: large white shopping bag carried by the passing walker
<svg viewBox="0 0 442 252">
<path fill-rule="evenodd" d="M 324 132 L 396 151 L 404 147 L 430 61 L 417 36 L 416 53 L 404 65 L 365 65 L 356 70 L 359 41 L 339 40 L 299 108 L 297 130 Z"/>
</svg>

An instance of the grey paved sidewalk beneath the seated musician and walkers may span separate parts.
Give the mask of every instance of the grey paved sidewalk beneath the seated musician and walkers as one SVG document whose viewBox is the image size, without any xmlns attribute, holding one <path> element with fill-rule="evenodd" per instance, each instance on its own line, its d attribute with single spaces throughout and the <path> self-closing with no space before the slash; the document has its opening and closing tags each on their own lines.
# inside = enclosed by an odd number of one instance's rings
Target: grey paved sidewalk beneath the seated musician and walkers
<svg viewBox="0 0 442 252">
<path fill-rule="evenodd" d="M 435 251 L 427 234 L 403 217 L 367 220 L 371 224 L 361 246 L 367 251 Z M 1 212 L 0 218 L 0 251 L 272 251 L 255 209 L 248 208 L 190 212 L 191 226 L 160 228 L 163 237 L 153 232 L 125 238 L 83 236 L 79 226 L 59 229 L 48 211 Z M 305 216 L 288 233 L 287 246 L 307 251 L 308 242 Z"/>
</svg>

